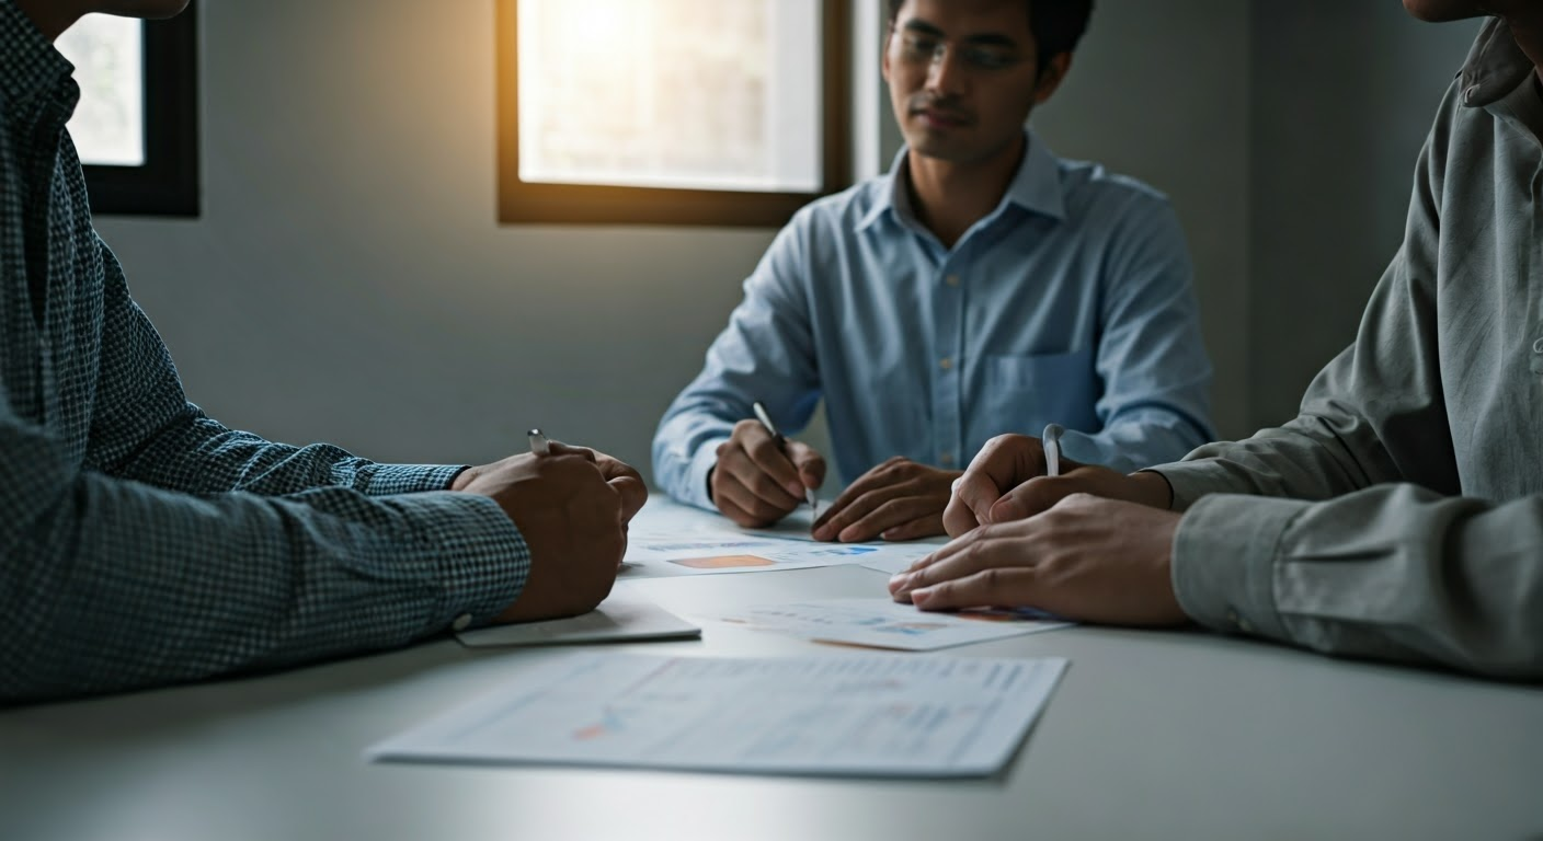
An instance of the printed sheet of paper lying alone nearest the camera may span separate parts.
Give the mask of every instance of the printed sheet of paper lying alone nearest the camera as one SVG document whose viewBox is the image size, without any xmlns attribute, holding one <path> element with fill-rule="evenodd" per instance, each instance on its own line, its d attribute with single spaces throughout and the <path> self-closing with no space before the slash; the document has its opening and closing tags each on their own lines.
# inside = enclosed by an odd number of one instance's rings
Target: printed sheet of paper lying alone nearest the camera
<svg viewBox="0 0 1543 841">
<path fill-rule="evenodd" d="M 370 759 L 818 776 L 988 776 L 1066 660 L 574 653 Z"/>
</svg>

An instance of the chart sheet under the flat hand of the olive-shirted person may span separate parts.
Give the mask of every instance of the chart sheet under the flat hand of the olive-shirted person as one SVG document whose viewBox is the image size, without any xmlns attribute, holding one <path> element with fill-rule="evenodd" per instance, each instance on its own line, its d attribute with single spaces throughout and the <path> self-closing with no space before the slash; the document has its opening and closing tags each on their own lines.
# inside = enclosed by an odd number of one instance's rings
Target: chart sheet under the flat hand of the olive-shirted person
<svg viewBox="0 0 1543 841">
<path fill-rule="evenodd" d="M 816 642 L 903 651 L 930 651 L 1071 627 L 1071 622 L 1040 611 L 923 613 L 889 599 L 809 599 L 753 605 L 719 613 L 714 619 Z"/>
</svg>

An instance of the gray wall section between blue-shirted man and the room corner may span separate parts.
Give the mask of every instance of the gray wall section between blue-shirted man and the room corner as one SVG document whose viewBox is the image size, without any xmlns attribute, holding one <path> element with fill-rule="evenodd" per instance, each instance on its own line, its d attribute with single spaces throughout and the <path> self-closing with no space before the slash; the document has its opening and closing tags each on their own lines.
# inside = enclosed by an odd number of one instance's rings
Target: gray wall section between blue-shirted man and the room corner
<svg viewBox="0 0 1543 841">
<path fill-rule="evenodd" d="M 1173 201 L 1227 435 L 1247 412 L 1248 26 L 1237 0 L 1099 0 L 1065 85 L 1029 117 L 1057 154 L 1099 160 Z"/>
</svg>

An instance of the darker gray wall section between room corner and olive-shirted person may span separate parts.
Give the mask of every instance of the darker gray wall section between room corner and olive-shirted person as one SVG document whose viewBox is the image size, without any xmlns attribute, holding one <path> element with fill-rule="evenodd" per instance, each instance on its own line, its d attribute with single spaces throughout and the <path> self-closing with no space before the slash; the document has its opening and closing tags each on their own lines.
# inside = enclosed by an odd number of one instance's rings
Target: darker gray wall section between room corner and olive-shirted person
<svg viewBox="0 0 1543 841">
<path fill-rule="evenodd" d="M 1250 421 L 1296 415 L 1403 241 L 1415 157 L 1480 22 L 1254 0 Z"/>
</svg>

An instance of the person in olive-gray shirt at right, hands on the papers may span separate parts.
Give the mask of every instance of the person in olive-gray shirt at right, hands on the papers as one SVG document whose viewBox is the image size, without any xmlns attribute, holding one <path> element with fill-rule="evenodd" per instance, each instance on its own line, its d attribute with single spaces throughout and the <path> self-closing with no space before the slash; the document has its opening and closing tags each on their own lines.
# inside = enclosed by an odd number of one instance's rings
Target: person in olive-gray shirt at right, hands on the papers
<svg viewBox="0 0 1543 841">
<path fill-rule="evenodd" d="M 1495 19 L 1420 156 L 1404 245 L 1298 418 L 1129 477 L 1029 480 L 1038 451 L 997 438 L 946 511 L 963 537 L 896 599 L 1543 677 L 1543 3 L 1404 5 Z"/>
</svg>

